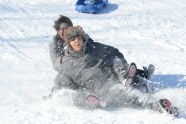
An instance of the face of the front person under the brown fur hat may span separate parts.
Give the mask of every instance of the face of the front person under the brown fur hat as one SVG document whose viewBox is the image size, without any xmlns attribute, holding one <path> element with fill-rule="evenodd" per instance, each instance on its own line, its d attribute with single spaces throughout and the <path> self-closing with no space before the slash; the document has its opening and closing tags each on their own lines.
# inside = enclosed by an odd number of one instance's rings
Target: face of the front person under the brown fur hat
<svg viewBox="0 0 186 124">
<path fill-rule="evenodd" d="M 75 37 L 70 41 L 70 46 L 75 50 L 75 51 L 80 51 L 83 48 L 83 39 L 82 37 Z"/>
</svg>

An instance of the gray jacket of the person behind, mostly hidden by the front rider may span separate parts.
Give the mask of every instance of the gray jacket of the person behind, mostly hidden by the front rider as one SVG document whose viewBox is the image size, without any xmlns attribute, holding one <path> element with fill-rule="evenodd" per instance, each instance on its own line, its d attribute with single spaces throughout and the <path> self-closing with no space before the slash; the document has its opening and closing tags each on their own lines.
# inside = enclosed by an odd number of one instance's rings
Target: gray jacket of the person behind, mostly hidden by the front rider
<svg viewBox="0 0 186 124">
<path fill-rule="evenodd" d="M 92 42 L 93 40 L 85 34 L 87 41 Z M 61 57 L 65 55 L 64 53 L 64 43 L 65 41 L 61 39 L 58 35 L 54 36 L 53 41 L 49 44 L 49 55 L 52 61 L 54 70 L 59 71 L 61 66 Z"/>
</svg>

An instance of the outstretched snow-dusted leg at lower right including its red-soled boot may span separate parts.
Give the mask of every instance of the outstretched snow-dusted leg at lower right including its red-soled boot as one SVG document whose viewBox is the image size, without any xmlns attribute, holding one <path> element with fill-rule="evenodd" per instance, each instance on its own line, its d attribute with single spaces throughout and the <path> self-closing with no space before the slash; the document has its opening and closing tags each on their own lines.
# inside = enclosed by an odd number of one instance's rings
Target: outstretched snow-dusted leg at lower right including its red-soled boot
<svg viewBox="0 0 186 124">
<path fill-rule="evenodd" d="M 152 94 L 142 93 L 122 84 L 113 85 L 108 90 L 106 102 L 108 106 L 151 109 L 178 116 L 176 107 L 173 107 L 168 99 L 159 99 Z"/>
</svg>

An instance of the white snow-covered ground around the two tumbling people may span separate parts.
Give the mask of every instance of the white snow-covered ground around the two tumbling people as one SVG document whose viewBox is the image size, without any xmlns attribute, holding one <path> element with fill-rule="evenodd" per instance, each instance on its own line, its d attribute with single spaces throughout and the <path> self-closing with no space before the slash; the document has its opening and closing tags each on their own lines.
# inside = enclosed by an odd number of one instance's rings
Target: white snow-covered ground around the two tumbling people
<svg viewBox="0 0 186 124">
<path fill-rule="evenodd" d="M 0 0 L 0 124 L 185 124 L 186 1 L 109 0 L 100 14 L 75 11 L 76 0 Z M 121 108 L 82 110 L 72 91 L 44 100 L 56 72 L 48 55 L 59 15 L 81 25 L 95 41 L 117 47 L 139 68 L 156 67 L 156 93 L 180 108 L 179 118 Z"/>
</svg>

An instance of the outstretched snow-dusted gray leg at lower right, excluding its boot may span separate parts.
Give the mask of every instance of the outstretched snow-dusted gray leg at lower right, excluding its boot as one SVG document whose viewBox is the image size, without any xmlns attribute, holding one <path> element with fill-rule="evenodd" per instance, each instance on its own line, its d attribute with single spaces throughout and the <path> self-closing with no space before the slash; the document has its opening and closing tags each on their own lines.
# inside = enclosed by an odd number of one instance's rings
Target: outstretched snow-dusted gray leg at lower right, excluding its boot
<svg viewBox="0 0 186 124">
<path fill-rule="evenodd" d="M 122 84 L 112 86 L 106 96 L 108 106 L 126 106 L 137 108 L 159 109 L 158 99 Z"/>
</svg>

